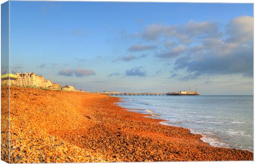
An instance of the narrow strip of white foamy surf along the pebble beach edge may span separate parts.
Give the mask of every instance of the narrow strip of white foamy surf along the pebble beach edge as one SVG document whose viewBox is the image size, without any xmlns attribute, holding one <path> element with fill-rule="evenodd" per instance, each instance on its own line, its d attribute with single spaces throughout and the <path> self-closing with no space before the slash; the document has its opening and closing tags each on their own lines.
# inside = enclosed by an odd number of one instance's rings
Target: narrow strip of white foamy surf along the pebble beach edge
<svg viewBox="0 0 256 164">
<path fill-rule="evenodd" d="M 247 96 L 247 95 L 246 95 L 246 96 Z M 251 96 L 251 95 L 248 95 L 248 96 Z M 119 97 L 119 96 L 116 96 L 116 97 Z M 119 98 L 125 98 L 125 97 L 119 97 Z M 121 102 L 126 102 L 126 101 L 121 101 Z M 153 111 L 149 110 L 149 109 L 137 109 L 137 108 L 136 108 L 136 109 L 133 109 L 133 108 L 126 108 L 126 107 L 123 107 L 121 104 L 118 104 L 118 105 L 120 105 L 122 108 L 125 108 L 126 110 L 128 110 L 128 111 L 130 111 L 130 112 L 138 112 L 138 113 L 142 113 L 142 114 L 147 113 L 147 114 L 149 114 L 150 117 L 153 118 L 153 119 L 161 119 L 161 120 L 163 120 L 161 117 L 157 117 L 156 115 L 154 115 L 155 113 L 154 113 Z M 148 110 L 149 112 L 145 112 L 146 110 Z M 140 112 L 140 111 L 142 111 L 142 112 Z M 150 113 L 151 113 L 151 114 L 150 114 Z M 145 116 L 145 117 L 147 117 L 147 116 Z M 166 122 L 166 123 L 165 123 L 165 122 Z M 173 127 L 181 127 L 181 126 L 178 126 L 178 125 L 176 126 L 176 125 L 173 125 L 173 124 L 169 124 L 168 122 L 171 122 L 171 121 L 164 119 L 163 121 L 159 122 L 159 124 L 166 125 L 166 126 L 171 126 L 171 127 L 172 127 L 172 126 L 173 126 Z M 185 129 L 190 130 L 190 133 L 191 133 L 191 134 L 201 135 L 200 140 L 201 140 L 202 142 L 204 142 L 204 143 L 209 144 L 209 145 L 212 146 L 212 147 L 237 149 L 237 150 L 244 150 L 244 151 L 249 151 L 249 152 L 254 153 L 253 150 L 239 149 L 239 148 L 231 148 L 231 147 L 228 146 L 227 143 L 224 143 L 224 142 L 222 142 L 222 141 L 209 141 L 209 142 L 207 142 L 207 139 L 210 139 L 210 140 L 211 140 L 211 139 L 213 139 L 213 138 L 210 138 L 210 137 L 205 136 L 205 135 L 203 134 L 204 132 L 193 132 L 193 131 L 192 131 L 190 128 L 188 128 L 188 127 L 181 127 L 181 128 L 185 128 Z M 206 138 L 206 139 L 203 139 L 203 138 Z M 213 143 L 212 143 L 212 142 L 213 142 Z M 224 143 L 224 144 L 227 145 L 227 146 L 216 146 L 216 145 L 214 145 L 214 142 Z"/>
</svg>

